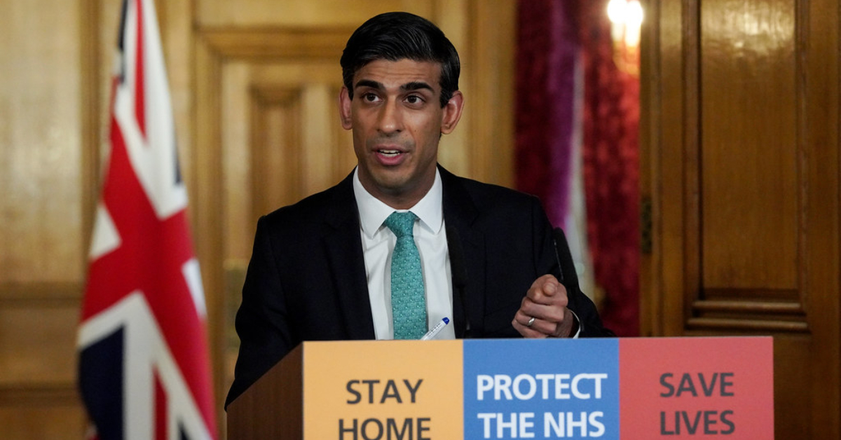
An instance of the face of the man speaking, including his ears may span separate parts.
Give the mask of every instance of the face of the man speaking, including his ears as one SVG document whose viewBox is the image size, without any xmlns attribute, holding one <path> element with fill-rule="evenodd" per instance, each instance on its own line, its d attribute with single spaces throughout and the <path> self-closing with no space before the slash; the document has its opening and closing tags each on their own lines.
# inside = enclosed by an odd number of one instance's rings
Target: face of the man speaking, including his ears
<svg viewBox="0 0 841 440">
<path fill-rule="evenodd" d="M 341 90 L 341 125 L 353 130 L 359 180 L 395 209 L 410 208 L 429 191 L 438 140 L 461 117 L 461 93 L 441 107 L 440 77 L 434 62 L 377 60 L 353 77 L 353 99 Z"/>
</svg>

